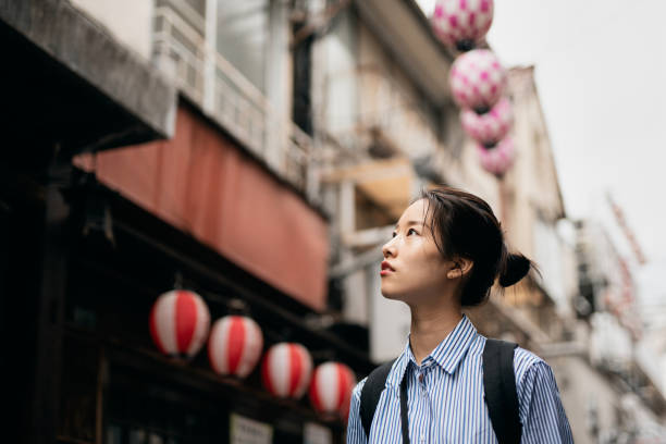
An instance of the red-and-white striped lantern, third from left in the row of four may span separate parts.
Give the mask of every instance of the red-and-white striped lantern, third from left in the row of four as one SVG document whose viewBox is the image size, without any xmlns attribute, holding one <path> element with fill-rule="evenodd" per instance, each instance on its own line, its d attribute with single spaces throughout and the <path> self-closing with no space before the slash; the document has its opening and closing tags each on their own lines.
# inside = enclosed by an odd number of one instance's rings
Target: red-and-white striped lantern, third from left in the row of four
<svg viewBox="0 0 666 444">
<path fill-rule="evenodd" d="M 273 396 L 299 398 L 312 377 L 312 358 L 300 344 L 279 343 L 267 351 L 261 381 Z"/>
</svg>

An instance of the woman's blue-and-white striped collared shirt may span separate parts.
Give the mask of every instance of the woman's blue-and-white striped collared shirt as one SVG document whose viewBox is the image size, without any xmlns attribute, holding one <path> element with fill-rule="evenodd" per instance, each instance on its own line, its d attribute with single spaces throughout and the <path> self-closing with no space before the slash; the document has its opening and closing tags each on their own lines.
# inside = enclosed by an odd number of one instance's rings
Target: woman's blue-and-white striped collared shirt
<svg viewBox="0 0 666 444">
<path fill-rule="evenodd" d="M 395 360 L 377 405 L 370 443 L 402 443 L 399 391 L 407 380 L 409 439 L 420 443 L 497 443 L 483 399 L 485 337 L 467 316 L 419 366 L 409 341 Z M 521 443 L 572 443 L 553 371 L 536 355 L 516 348 L 514 371 Z M 354 388 L 347 444 L 367 443 L 358 408 L 366 380 Z"/>
</svg>

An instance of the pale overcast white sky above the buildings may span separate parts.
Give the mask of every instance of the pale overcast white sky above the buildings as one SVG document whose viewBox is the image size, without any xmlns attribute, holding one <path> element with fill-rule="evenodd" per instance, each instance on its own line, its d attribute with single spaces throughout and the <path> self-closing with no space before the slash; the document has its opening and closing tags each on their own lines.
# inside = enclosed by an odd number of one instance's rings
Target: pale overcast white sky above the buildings
<svg viewBox="0 0 666 444">
<path fill-rule="evenodd" d="M 662 271 L 665 15 L 663 0 L 495 0 L 488 35 L 506 66 L 535 65 L 568 215 L 596 215 L 609 192 Z"/>
</svg>

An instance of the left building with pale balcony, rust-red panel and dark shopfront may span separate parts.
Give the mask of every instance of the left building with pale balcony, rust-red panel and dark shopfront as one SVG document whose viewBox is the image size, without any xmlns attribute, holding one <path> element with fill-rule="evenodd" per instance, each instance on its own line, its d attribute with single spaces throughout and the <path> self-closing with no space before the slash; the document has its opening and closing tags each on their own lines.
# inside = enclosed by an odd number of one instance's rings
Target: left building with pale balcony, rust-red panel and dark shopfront
<svg viewBox="0 0 666 444">
<path fill-rule="evenodd" d="M 29 148 L 2 162 L 2 326 L 25 332 L 9 441 L 341 441 L 342 419 L 307 396 L 270 396 L 258 369 L 220 377 L 205 351 L 163 356 L 148 329 L 157 297 L 186 288 L 213 321 L 254 318 L 264 347 L 372 369 L 323 318 L 328 215 L 294 104 L 292 77 L 308 72 L 289 47 L 297 5 L 0 4 L 25 61 L 8 84 L 8 141 Z M 10 297 L 21 282 L 34 289 Z"/>
</svg>

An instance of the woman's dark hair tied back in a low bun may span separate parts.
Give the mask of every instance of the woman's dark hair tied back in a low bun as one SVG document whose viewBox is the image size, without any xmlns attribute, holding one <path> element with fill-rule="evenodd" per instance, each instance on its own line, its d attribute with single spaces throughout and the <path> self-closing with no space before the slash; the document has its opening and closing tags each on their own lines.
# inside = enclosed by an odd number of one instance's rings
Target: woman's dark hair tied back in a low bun
<svg viewBox="0 0 666 444">
<path fill-rule="evenodd" d="M 442 256 L 473 261 L 462 287 L 462 307 L 484 303 L 497 276 L 499 285 L 507 287 L 534 267 L 525 256 L 508 252 L 497 218 L 480 197 L 440 186 L 423 190 L 420 199 L 428 202 L 425 219 L 431 215 L 430 231 Z"/>
</svg>

